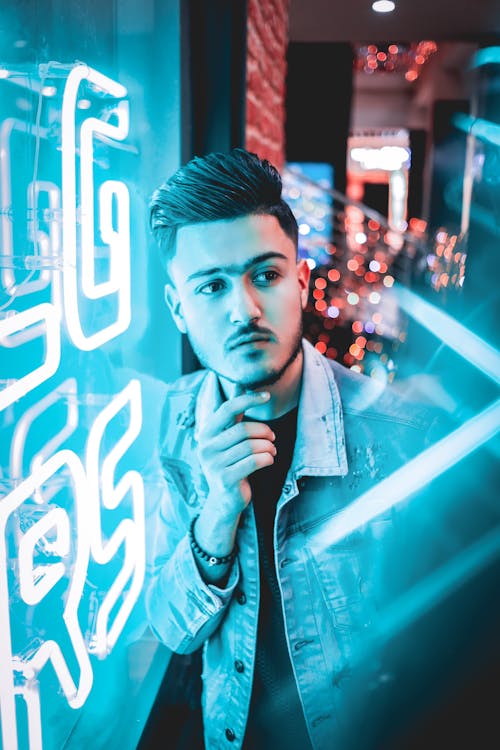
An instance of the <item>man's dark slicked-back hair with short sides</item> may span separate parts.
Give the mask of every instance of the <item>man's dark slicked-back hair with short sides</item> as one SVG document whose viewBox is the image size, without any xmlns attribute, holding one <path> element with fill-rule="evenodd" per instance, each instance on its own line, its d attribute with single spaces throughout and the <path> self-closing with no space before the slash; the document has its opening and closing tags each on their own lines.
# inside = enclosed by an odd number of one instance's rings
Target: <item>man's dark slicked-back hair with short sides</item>
<svg viewBox="0 0 500 750">
<path fill-rule="evenodd" d="M 150 227 L 164 261 L 180 227 L 249 215 L 275 216 L 297 247 L 297 221 L 281 191 L 276 167 L 243 148 L 195 156 L 151 197 Z"/>
</svg>

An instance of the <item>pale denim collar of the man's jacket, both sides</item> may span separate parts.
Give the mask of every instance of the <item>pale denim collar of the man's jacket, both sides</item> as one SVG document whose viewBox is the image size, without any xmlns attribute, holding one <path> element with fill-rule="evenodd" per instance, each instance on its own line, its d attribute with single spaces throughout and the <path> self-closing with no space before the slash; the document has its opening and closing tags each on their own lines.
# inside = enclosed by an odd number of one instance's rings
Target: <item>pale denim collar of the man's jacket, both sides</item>
<svg viewBox="0 0 500 750">
<path fill-rule="evenodd" d="M 304 365 L 297 414 L 292 474 L 298 478 L 347 474 L 340 394 L 328 361 L 302 340 Z M 217 375 L 207 370 L 196 400 L 195 440 L 206 420 L 222 404 Z"/>
</svg>

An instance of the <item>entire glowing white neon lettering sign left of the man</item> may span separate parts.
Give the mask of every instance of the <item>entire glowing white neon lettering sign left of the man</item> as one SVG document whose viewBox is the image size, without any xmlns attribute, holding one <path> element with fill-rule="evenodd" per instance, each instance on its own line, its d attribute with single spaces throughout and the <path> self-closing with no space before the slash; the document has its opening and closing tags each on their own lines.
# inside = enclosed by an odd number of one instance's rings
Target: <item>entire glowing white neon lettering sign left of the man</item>
<svg viewBox="0 0 500 750">
<path fill-rule="evenodd" d="M 55 64 L 55 73 L 62 80 L 54 86 L 57 111 L 51 103 L 57 141 L 39 121 L 7 117 L 0 126 L 7 297 L 0 419 L 9 433 L 6 472 L 0 464 L 4 750 L 43 747 L 44 685 L 54 675 L 61 700 L 73 709 L 85 704 L 92 659 L 116 645 L 145 571 L 144 486 L 134 464 L 140 383 L 103 378 L 96 391 L 75 369 L 131 321 L 129 191 L 116 170 L 102 168 L 128 135 L 127 90 L 83 64 Z M 14 137 L 35 143 L 36 168 L 41 148 L 50 157 L 24 187 L 12 169 Z M 25 207 L 24 233 L 12 222 L 21 213 L 16 200 Z"/>
</svg>

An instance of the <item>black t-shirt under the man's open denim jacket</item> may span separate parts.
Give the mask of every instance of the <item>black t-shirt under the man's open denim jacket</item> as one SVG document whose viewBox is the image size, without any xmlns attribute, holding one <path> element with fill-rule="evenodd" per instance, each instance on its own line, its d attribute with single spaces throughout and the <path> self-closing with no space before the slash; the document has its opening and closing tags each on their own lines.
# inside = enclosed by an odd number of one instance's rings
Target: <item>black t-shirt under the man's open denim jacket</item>
<svg viewBox="0 0 500 750">
<path fill-rule="evenodd" d="M 293 674 L 274 564 L 276 504 L 292 461 L 297 408 L 266 421 L 276 435 L 276 458 L 250 475 L 260 562 L 257 653 L 244 750 L 308 750 L 311 747 Z"/>
</svg>

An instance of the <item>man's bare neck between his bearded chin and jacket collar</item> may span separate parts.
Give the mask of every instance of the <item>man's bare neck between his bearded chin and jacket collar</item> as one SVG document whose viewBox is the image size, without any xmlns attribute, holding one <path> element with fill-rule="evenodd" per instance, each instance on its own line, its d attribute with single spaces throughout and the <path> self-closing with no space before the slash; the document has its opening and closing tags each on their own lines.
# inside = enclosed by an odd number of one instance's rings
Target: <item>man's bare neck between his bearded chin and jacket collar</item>
<svg viewBox="0 0 500 750">
<path fill-rule="evenodd" d="M 277 419 L 293 409 L 299 403 L 300 387 L 302 384 L 302 370 L 304 366 L 304 355 L 302 349 L 290 363 L 279 380 L 273 385 L 262 386 L 256 390 L 269 391 L 271 398 L 262 406 L 249 409 L 245 414 L 260 421 L 266 419 Z M 238 393 L 246 389 L 219 376 L 219 381 L 226 398 L 234 398 Z"/>
</svg>

